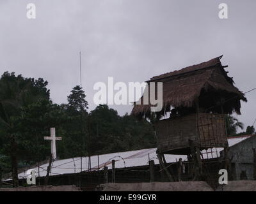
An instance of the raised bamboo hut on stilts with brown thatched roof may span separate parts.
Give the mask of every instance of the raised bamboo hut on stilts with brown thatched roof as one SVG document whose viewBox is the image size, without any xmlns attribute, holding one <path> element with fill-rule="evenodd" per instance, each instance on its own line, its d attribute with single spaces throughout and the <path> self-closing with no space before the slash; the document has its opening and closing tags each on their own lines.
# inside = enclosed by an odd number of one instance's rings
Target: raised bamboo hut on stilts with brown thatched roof
<svg viewBox="0 0 256 204">
<path fill-rule="evenodd" d="M 163 108 L 159 112 L 150 111 L 150 101 L 143 104 L 145 93 L 140 105 L 134 103 L 132 114 L 136 117 L 152 119 L 154 116 L 157 153 L 163 168 L 164 154 L 185 154 L 198 169 L 194 174 L 199 175 L 202 173 L 200 151 L 224 147 L 227 152 L 225 115 L 241 114 L 240 101 L 246 98 L 228 77 L 221 57 L 150 78 L 148 89 L 150 82 L 163 83 Z M 225 168 L 227 165 L 226 162 Z M 170 174 L 168 177 L 172 180 Z"/>
</svg>

